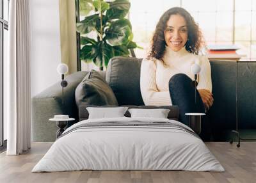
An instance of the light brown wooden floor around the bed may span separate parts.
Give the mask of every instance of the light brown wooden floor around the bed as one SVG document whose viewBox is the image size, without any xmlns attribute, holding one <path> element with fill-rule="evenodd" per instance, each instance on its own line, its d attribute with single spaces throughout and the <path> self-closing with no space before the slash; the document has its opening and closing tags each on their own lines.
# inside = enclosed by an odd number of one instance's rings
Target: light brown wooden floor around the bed
<svg viewBox="0 0 256 183">
<path fill-rule="evenodd" d="M 0 182 L 256 182 L 256 142 L 241 147 L 228 142 L 206 143 L 224 166 L 225 172 L 195 171 L 65 171 L 31 173 L 31 169 L 52 143 L 32 143 L 28 152 L 17 156 L 0 154 Z"/>
</svg>

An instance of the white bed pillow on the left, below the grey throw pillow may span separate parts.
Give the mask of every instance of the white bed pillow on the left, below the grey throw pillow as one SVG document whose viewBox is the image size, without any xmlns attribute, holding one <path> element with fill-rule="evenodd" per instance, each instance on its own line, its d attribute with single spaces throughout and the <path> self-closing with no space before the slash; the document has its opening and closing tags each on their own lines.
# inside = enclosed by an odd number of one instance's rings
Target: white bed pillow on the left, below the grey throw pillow
<svg viewBox="0 0 256 183">
<path fill-rule="evenodd" d="M 125 117 L 124 114 L 128 107 L 86 107 L 89 119 L 95 118 L 119 118 Z"/>
</svg>

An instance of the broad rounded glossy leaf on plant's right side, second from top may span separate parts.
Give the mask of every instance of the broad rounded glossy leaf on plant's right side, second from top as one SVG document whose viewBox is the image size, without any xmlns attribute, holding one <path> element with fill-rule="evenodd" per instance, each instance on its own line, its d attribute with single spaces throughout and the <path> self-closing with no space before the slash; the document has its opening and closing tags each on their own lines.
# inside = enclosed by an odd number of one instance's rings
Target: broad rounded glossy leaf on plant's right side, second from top
<svg viewBox="0 0 256 183">
<path fill-rule="evenodd" d="M 105 31 L 106 40 L 110 45 L 124 45 L 129 42 L 131 35 L 131 23 L 127 19 L 120 19 L 113 22 Z"/>
</svg>

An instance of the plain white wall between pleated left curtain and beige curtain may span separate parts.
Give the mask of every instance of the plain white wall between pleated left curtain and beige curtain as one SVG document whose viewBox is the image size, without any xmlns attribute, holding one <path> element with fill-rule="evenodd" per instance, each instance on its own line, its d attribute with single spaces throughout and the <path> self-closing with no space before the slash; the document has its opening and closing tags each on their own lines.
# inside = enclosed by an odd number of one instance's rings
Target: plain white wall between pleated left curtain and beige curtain
<svg viewBox="0 0 256 183">
<path fill-rule="evenodd" d="M 60 81 L 59 0 L 30 0 L 31 97 Z"/>
</svg>

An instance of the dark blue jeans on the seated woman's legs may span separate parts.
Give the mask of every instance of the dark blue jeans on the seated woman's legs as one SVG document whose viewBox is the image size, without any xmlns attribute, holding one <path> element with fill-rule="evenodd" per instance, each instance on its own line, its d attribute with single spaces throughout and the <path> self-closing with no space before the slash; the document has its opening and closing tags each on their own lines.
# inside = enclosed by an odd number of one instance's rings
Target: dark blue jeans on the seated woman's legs
<svg viewBox="0 0 256 183">
<path fill-rule="evenodd" d="M 175 74 L 170 79 L 169 92 L 173 106 L 179 106 L 180 122 L 189 125 L 189 116 L 186 116 L 185 113 L 205 113 L 204 103 L 200 94 L 195 90 L 192 80 L 186 74 Z M 200 137 L 204 141 L 209 141 L 211 139 L 211 127 L 207 115 L 202 116 L 201 124 Z"/>
</svg>

